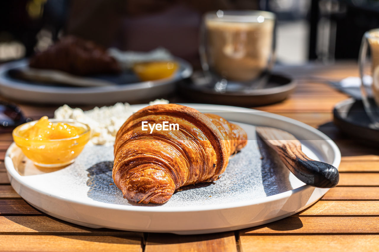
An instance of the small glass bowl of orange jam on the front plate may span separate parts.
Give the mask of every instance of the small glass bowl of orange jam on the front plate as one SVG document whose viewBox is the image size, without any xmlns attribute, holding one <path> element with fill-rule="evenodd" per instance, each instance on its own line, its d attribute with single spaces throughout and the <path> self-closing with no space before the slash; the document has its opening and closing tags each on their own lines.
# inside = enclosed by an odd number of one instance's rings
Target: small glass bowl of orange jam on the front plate
<svg viewBox="0 0 379 252">
<path fill-rule="evenodd" d="M 36 165 L 46 167 L 72 163 L 91 137 L 88 125 L 44 116 L 18 126 L 13 140 Z"/>
</svg>

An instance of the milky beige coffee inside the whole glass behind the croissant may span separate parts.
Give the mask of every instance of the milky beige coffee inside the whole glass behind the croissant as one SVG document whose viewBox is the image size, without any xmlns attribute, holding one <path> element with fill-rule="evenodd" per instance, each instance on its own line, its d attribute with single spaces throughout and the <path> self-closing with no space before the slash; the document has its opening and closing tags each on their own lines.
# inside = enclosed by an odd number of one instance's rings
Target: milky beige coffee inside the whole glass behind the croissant
<svg viewBox="0 0 379 252">
<path fill-rule="evenodd" d="M 251 82 L 268 70 L 273 57 L 274 19 L 205 20 L 209 71 L 230 81 Z"/>
</svg>

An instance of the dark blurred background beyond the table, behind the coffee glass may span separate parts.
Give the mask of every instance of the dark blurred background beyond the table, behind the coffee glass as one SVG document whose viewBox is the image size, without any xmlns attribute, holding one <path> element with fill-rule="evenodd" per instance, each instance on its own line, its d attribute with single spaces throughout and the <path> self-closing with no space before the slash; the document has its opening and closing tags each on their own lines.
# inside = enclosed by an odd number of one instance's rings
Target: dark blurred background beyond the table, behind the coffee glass
<svg viewBox="0 0 379 252">
<path fill-rule="evenodd" d="M 278 64 L 357 59 L 363 33 L 379 27 L 377 0 L 5 0 L 0 62 L 74 34 L 121 50 L 168 48 L 196 69 L 201 17 L 215 9 L 276 13 Z"/>
</svg>

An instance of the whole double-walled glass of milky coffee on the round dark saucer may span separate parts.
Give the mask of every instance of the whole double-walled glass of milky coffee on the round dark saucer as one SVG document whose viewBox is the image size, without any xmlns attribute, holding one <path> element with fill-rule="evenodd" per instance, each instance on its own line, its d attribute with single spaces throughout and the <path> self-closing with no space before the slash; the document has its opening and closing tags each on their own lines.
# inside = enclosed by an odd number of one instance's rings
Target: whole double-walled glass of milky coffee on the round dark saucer
<svg viewBox="0 0 379 252">
<path fill-rule="evenodd" d="M 262 88 L 274 63 L 275 14 L 213 11 L 203 17 L 200 59 L 216 91 Z"/>
</svg>

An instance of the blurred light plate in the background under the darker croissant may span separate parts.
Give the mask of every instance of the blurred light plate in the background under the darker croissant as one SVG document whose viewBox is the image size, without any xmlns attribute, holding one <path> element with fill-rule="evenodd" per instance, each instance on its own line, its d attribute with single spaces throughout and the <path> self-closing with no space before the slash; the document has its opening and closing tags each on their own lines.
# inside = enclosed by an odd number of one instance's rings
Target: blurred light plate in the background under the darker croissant
<svg viewBox="0 0 379 252">
<path fill-rule="evenodd" d="M 0 66 L 0 93 L 11 100 L 31 103 L 98 105 L 151 100 L 173 92 L 175 82 L 191 76 L 192 67 L 188 62 L 180 58 L 175 58 L 175 61 L 179 62 L 180 68 L 172 78 L 104 87 L 60 87 L 36 85 L 9 76 L 9 70 L 28 65 L 28 61 L 23 59 Z"/>
</svg>

